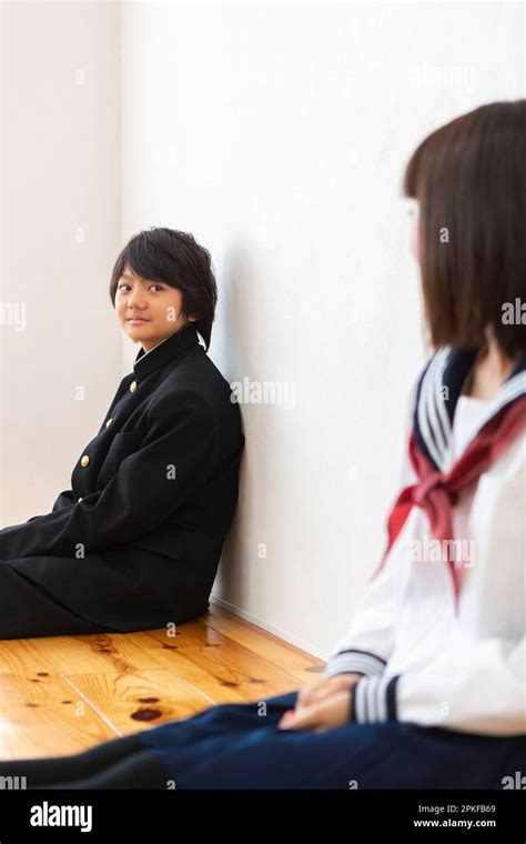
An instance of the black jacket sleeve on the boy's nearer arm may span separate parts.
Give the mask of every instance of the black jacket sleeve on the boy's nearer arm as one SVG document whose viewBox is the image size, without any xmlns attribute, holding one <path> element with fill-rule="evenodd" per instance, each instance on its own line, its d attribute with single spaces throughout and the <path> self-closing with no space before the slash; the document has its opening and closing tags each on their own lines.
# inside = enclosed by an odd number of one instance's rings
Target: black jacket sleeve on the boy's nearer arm
<svg viewBox="0 0 526 844">
<path fill-rule="evenodd" d="M 107 486 L 81 502 L 0 531 L 0 559 L 79 555 L 133 541 L 162 524 L 206 481 L 216 461 L 212 406 L 192 390 L 164 395 L 148 412 L 141 448 Z"/>
</svg>

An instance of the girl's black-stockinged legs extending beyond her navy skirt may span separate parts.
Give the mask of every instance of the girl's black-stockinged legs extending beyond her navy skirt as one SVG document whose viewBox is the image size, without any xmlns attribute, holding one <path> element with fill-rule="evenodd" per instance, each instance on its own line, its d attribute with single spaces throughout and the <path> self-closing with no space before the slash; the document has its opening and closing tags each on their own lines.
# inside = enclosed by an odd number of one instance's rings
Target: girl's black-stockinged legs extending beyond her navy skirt
<svg viewBox="0 0 526 844">
<path fill-rule="evenodd" d="M 34 788 L 165 788 L 158 754 L 136 735 L 114 738 L 73 756 L 0 762 L 0 777 L 24 776 Z"/>
</svg>

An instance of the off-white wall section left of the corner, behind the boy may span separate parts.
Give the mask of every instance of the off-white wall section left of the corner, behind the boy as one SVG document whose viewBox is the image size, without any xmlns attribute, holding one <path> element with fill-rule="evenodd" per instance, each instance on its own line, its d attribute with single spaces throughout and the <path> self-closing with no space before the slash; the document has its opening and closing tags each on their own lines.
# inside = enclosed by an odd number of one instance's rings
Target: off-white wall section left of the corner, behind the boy
<svg viewBox="0 0 526 844">
<path fill-rule="evenodd" d="M 108 293 L 119 247 L 119 7 L 0 11 L 6 525 L 49 512 L 69 488 L 120 374 Z"/>
</svg>

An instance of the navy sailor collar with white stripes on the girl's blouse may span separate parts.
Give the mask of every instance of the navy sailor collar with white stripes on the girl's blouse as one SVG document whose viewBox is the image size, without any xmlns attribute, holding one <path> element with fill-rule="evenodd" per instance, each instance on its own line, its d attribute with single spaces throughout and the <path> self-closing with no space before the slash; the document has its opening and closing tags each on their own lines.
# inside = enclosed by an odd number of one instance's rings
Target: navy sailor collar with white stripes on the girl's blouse
<svg viewBox="0 0 526 844">
<path fill-rule="evenodd" d="M 428 361 L 417 385 L 413 415 L 415 440 L 419 450 L 441 472 L 446 470 L 451 461 L 455 409 L 477 353 L 477 350 L 457 350 L 451 346 L 441 349 Z M 503 408 L 525 394 L 526 354 L 523 354 L 488 402 L 487 412 L 473 438 Z"/>
</svg>

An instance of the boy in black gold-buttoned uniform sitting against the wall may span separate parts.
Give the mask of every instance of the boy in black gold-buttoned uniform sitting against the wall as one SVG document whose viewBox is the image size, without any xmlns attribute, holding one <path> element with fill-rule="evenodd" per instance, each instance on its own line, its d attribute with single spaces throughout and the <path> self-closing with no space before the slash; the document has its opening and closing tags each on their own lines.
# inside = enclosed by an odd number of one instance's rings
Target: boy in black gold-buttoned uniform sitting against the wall
<svg viewBox="0 0 526 844">
<path fill-rule="evenodd" d="M 244 436 L 205 354 L 218 298 L 191 234 L 142 231 L 110 295 L 141 349 L 51 513 L 0 532 L 0 639 L 179 624 L 205 612 Z"/>
</svg>

